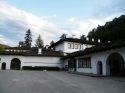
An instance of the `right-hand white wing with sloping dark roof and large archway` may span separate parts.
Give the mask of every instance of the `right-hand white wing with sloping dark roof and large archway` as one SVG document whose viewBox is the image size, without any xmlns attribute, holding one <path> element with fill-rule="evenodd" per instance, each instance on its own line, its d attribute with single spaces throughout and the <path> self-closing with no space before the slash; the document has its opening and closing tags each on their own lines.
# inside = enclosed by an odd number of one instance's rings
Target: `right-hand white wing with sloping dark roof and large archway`
<svg viewBox="0 0 125 93">
<path fill-rule="evenodd" d="M 125 75 L 125 44 L 96 46 L 65 57 L 69 71 L 96 75 Z"/>
</svg>

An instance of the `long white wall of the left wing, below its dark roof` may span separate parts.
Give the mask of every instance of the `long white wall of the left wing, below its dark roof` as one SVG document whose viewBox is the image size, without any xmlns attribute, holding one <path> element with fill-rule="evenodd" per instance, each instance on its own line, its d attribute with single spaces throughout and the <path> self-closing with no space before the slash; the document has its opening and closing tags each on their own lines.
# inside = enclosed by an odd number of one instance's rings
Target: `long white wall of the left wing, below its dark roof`
<svg viewBox="0 0 125 93">
<path fill-rule="evenodd" d="M 38 56 L 13 56 L 13 55 L 0 55 L 0 69 L 3 62 L 6 63 L 6 69 L 10 69 L 10 63 L 13 58 L 18 58 L 22 66 L 50 66 L 63 68 L 63 63 L 60 57 L 38 57 Z"/>
</svg>

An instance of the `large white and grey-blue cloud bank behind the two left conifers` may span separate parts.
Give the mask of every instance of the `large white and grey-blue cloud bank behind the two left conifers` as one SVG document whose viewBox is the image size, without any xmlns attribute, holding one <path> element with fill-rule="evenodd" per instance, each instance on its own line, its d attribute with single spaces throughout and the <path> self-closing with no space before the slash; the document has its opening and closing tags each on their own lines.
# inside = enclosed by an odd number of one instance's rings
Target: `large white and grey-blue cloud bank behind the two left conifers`
<svg viewBox="0 0 125 93">
<path fill-rule="evenodd" d="M 56 15 L 54 14 L 53 17 L 56 17 Z M 0 34 L 4 33 L 8 36 L 8 39 L 13 39 L 18 43 L 19 40 L 23 40 L 24 34 L 29 28 L 33 34 L 33 43 L 38 34 L 41 34 L 45 44 L 48 44 L 55 36 L 58 37 L 67 32 L 59 28 L 47 17 L 36 16 L 5 2 L 0 3 Z M 4 39 L 4 41 L 8 39 Z"/>
</svg>

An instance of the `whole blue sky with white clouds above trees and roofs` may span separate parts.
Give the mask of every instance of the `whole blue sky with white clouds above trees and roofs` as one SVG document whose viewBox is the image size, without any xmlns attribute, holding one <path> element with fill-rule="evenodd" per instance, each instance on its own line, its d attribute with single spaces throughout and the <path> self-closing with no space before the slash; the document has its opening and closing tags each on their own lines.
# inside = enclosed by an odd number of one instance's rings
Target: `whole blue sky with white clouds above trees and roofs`
<svg viewBox="0 0 125 93">
<path fill-rule="evenodd" d="M 39 34 L 45 45 L 63 33 L 79 38 L 125 14 L 124 4 L 125 0 L 0 0 L 0 43 L 17 46 L 28 29 L 33 46 Z"/>
</svg>

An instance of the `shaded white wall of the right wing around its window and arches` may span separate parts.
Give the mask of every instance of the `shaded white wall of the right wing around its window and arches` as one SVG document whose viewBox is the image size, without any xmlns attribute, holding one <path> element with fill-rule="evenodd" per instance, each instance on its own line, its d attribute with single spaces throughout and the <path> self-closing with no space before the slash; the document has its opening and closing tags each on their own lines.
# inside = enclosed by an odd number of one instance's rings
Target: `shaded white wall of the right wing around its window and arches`
<svg viewBox="0 0 125 93">
<path fill-rule="evenodd" d="M 78 68 L 77 67 L 77 72 L 97 74 L 97 63 L 99 61 L 101 61 L 103 64 L 103 75 L 109 75 L 109 73 L 107 72 L 106 62 L 107 62 L 108 57 L 112 53 L 121 54 L 121 56 L 124 58 L 124 62 L 125 62 L 125 47 L 119 48 L 119 49 L 107 50 L 107 51 L 98 52 L 98 53 L 94 53 L 94 54 L 90 54 L 90 55 L 76 57 L 75 59 L 77 59 L 77 62 L 78 62 L 78 58 L 91 57 L 91 68 Z M 67 64 L 67 61 L 68 61 L 68 59 L 65 60 L 65 64 Z M 124 67 L 125 67 L 125 63 L 124 63 Z"/>
</svg>

